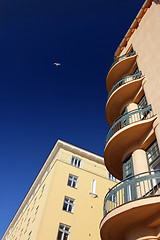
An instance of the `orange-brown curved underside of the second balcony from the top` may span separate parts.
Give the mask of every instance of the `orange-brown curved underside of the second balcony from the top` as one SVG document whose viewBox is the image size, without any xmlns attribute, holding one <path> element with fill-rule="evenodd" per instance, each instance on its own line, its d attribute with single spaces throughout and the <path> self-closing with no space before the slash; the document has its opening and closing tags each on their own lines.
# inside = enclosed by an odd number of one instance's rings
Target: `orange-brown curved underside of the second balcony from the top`
<svg viewBox="0 0 160 240">
<path fill-rule="evenodd" d="M 143 78 L 130 81 L 111 94 L 105 108 L 106 120 L 109 126 L 120 117 L 124 107 L 133 101 L 142 85 L 142 80 Z"/>
</svg>

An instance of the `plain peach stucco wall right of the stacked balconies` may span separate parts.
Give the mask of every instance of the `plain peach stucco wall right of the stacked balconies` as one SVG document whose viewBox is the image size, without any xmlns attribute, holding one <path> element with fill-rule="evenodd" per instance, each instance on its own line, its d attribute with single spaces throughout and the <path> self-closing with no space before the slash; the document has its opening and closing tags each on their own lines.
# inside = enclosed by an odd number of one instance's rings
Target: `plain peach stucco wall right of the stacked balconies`
<svg viewBox="0 0 160 240">
<path fill-rule="evenodd" d="M 135 29 L 126 48 L 122 51 L 123 55 L 132 45 L 133 49 L 138 53 L 137 63 L 142 74 L 145 75 L 143 81 L 143 89 L 148 101 L 152 105 L 153 112 L 157 114 L 157 120 L 154 123 L 156 126 L 156 137 L 160 146 L 160 3 L 152 1 L 144 17 L 137 29 Z"/>
</svg>

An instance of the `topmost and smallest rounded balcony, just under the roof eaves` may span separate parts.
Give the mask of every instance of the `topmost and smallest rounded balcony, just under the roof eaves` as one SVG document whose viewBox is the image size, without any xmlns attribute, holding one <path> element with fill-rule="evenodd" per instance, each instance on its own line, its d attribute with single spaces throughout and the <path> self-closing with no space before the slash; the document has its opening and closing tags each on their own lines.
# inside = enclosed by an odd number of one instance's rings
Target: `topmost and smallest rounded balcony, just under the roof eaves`
<svg viewBox="0 0 160 240">
<path fill-rule="evenodd" d="M 116 84 L 119 79 L 127 75 L 131 67 L 136 61 L 137 54 L 135 51 L 126 53 L 116 59 L 111 65 L 106 79 L 106 88 L 109 93 L 114 84 Z"/>
</svg>

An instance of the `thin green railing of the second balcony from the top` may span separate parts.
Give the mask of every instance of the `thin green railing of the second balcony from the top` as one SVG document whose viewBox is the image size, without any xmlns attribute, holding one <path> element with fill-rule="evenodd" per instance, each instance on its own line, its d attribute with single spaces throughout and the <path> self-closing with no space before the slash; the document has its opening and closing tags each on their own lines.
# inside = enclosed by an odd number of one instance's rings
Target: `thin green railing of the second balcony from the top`
<svg viewBox="0 0 160 240">
<path fill-rule="evenodd" d="M 133 75 L 129 75 L 126 76 L 124 78 L 122 78 L 120 81 L 118 81 L 110 90 L 109 94 L 108 94 L 108 98 L 110 97 L 110 95 L 112 94 L 112 92 L 114 92 L 117 88 L 119 88 L 120 86 L 122 86 L 123 84 L 127 83 L 127 82 L 131 82 L 133 80 L 136 80 L 138 78 L 140 78 L 142 76 L 142 72 L 138 72 L 136 74 Z"/>
</svg>

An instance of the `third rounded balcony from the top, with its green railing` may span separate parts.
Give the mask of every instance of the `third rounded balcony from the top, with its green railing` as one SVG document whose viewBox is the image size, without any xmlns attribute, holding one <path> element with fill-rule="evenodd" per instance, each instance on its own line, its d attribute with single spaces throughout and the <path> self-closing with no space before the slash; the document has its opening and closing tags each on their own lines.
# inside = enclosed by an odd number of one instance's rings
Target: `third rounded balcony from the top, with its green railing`
<svg viewBox="0 0 160 240">
<path fill-rule="evenodd" d="M 151 131 L 155 118 L 149 105 L 122 115 L 112 124 L 106 136 L 104 161 L 114 177 L 123 179 L 123 160 L 141 146 Z"/>
</svg>

